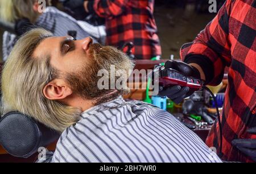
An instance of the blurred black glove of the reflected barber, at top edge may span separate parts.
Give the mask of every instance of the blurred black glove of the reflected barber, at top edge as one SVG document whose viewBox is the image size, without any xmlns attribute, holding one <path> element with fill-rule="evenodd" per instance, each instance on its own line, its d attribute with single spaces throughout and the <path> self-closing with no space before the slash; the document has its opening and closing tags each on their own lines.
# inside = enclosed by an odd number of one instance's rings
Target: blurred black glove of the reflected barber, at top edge
<svg viewBox="0 0 256 174">
<path fill-rule="evenodd" d="M 64 0 L 61 1 L 65 10 L 77 20 L 84 20 L 88 13 L 84 9 L 85 0 Z"/>
</svg>

